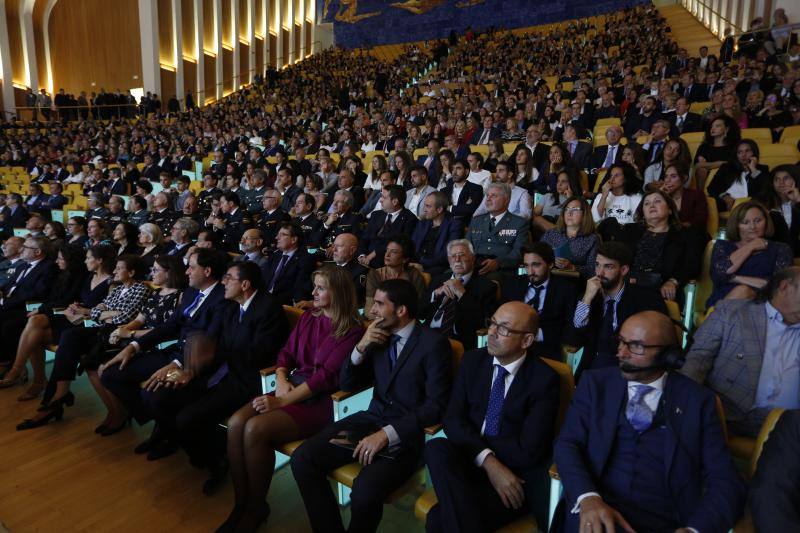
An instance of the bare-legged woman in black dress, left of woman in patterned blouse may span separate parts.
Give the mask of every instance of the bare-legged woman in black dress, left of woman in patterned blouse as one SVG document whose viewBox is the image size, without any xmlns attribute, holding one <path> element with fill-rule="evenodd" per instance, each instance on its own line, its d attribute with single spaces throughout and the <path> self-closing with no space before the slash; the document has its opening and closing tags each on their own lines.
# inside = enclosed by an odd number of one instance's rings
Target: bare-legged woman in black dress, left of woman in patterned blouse
<svg viewBox="0 0 800 533">
<path fill-rule="evenodd" d="M 19 338 L 14 366 L 0 382 L 0 387 L 25 383 L 28 377 L 25 363 L 30 359 L 33 383 L 18 399 L 25 401 L 39 397 L 45 387 L 45 348 L 57 344 L 62 332 L 79 327 L 75 323 L 80 323 L 83 317 L 80 309 L 94 307 L 103 301 L 111 283 L 115 256 L 112 247 L 95 246 L 86 251 L 84 260 L 81 248 L 62 244 L 56 261 L 61 273 L 47 302 L 29 313 Z"/>
</svg>

